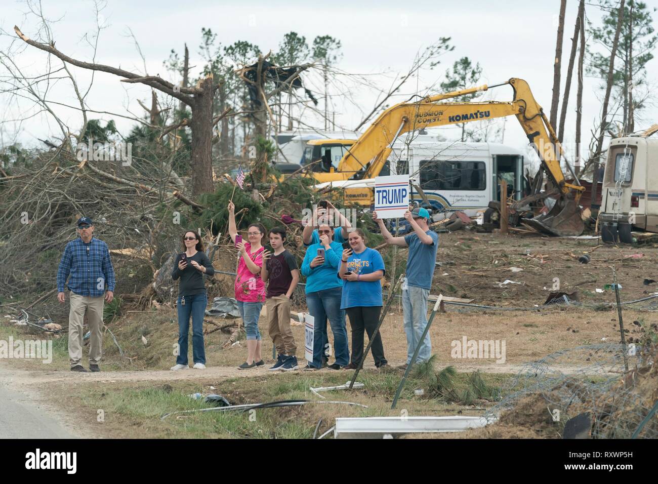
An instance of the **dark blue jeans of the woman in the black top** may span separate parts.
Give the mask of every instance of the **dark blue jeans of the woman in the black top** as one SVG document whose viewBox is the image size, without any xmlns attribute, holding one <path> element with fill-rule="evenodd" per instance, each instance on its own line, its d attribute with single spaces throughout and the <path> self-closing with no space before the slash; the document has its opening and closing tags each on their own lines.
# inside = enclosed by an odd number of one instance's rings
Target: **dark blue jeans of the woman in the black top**
<svg viewBox="0 0 658 484">
<path fill-rule="evenodd" d="M 208 305 L 208 296 L 205 292 L 185 297 L 178 296 L 176 308 L 178 309 L 178 357 L 176 364 L 188 364 L 188 333 L 190 333 L 190 314 L 192 316 L 192 356 L 195 363 L 205 365 L 205 350 L 203 349 L 203 315 Z"/>
</svg>

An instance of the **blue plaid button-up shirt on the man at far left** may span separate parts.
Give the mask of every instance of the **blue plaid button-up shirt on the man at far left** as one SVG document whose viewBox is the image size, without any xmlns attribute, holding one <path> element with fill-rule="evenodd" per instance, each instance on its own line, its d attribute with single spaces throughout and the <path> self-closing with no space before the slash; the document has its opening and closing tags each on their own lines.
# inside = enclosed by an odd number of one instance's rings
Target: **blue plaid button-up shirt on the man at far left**
<svg viewBox="0 0 658 484">
<path fill-rule="evenodd" d="M 78 296 L 103 296 L 106 284 L 107 290 L 114 292 L 114 267 L 107 244 L 95 237 L 89 244 L 79 237 L 68 242 L 57 269 L 58 292 L 64 292 L 69 275 L 68 289 Z"/>
</svg>

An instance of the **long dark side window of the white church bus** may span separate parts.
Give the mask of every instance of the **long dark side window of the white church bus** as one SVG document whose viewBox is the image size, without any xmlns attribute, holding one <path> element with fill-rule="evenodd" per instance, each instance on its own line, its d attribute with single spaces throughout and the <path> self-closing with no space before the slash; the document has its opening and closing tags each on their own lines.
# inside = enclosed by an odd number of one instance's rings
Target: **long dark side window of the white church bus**
<svg viewBox="0 0 658 484">
<path fill-rule="evenodd" d="M 483 161 L 420 161 L 420 187 L 426 190 L 484 190 Z"/>
</svg>

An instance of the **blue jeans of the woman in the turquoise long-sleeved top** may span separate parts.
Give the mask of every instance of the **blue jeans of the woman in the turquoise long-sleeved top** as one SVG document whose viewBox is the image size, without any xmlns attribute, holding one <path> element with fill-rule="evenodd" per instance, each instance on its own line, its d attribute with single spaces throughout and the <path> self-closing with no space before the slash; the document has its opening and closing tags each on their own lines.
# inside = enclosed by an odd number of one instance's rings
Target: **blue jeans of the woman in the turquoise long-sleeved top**
<svg viewBox="0 0 658 484">
<path fill-rule="evenodd" d="M 306 295 L 306 306 L 315 319 L 313 328 L 313 363 L 311 366 L 322 367 L 324 343 L 327 340 L 327 323 L 334 333 L 334 352 L 336 363 L 345 366 L 349 363 L 349 349 L 347 346 L 347 329 L 345 329 L 345 311 L 340 309 L 340 299 L 343 289 L 340 287 L 309 292 Z"/>
</svg>

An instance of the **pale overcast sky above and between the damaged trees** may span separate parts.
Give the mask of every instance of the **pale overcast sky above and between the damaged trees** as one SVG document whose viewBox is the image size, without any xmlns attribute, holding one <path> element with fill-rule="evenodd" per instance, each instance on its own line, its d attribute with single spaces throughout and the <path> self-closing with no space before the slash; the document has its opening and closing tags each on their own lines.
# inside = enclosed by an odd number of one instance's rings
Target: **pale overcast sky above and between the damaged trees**
<svg viewBox="0 0 658 484">
<path fill-rule="evenodd" d="M 422 72 L 418 79 L 410 80 L 393 99 L 399 102 L 415 94 L 417 90 L 425 94 L 426 86 L 436 85 L 443 80 L 445 69 L 459 57 L 468 56 L 482 66 L 480 84 L 497 84 L 511 77 L 528 81 L 537 101 L 550 111 L 553 84 L 553 56 L 557 31 L 559 0 L 529 3 L 523 0 L 505 2 L 490 1 L 414 1 L 401 6 L 399 1 L 379 0 L 354 2 L 334 0 L 324 7 L 309 1 L 124 1 L 109 0 L 103 10 L 103 22 L 108 28 L 99 39 L 96 55 L 97 63 L 120 66 L 126 70 L 143 73 L 143 62 L 129 35 L 132 30 L 146 59 L 148 74 L 161 74 L 170 77 L 163 67 L 163 61 L 170 49 L 182 51 L 183 44 L 190 47 L 191 65 L 201 65 L 197 46 L 201 39 L 201 28 L 212 28 L 218 40 L 228 45 L 236 40 L 247 40 L 259 45 L 262 51 L 276 51 L 278 43 L 286 32 L 295 31 L 311 43 L 318 35 L 331 35 L 342 42 L 343 57 L 338 68 L 345 72 L 370 75 L 368 79 L 388 87 L 395 72 L 405 73 L 413 63 L 419 50 L 438 40 L 451 37 L 454 51 L 441 59 L 434 70 Z M 649 5 L 651 1 L 647 2 Z M 52 24 L 56 46 L 71 57 L 90 60 L 91 49 L 84 42 L 84 34 L 95 28 L 95 16 L 91 1 L 43 0 L 43 11 Z M 563 89 L 569 61 L 570 37 L 576 17 L 578 2 L 567 2 L 565 36 L 563 46 Z M 601 13 L 588 3 L 588 18 L 595 25 L 600 24 Z M 38 20 L 26 12 L 23 2 L 3 0 L 3 13 L 0 27 L 3 32 L 13 34 L 17 24 L 22 32 L 36 37 Z M 656 22 L 654 18 L 654 26 Z M 0 38 L 0 49 L 6 51 L 11 36 Z M 18 41 L 20 43 L 20 41 Z M 13 61 L 24 73 L 36 75 L 45 69 L 45 53 L 30 46 L 20 46 L 20 54 Z M 14 47 L 15 48 L 15 47 Z M 59 61 L 53 65 L 59 66 Z M 86 90 L 91 80 L 90 73 L 72 67 L 81 90 Z M 5 75 L 4 68 L 0 72 Z M 26 75 L 27 75 L 26 74 Z M 658 74 L 658 60 L 647 65 L 647 79 L 655 82 Z M 111 111 L 123 115 L 130 112 L 143 115 L 137 99 L 150 99 L 149 88 L 141 85 L 124 84 L 111 74 L 95 75 L 93 87 L 88 96 L 88 105 L 97 111 Z M 589 135 L 594 119 L 599 116 L 603 93 L 598 89 L 600 80 L 586 77 L 584 80 L 583 131 Z M 434 92 L 434 91 L 432 91 Z M 565 142 L 574 141 L 576 82 L 572 84 Z M 373 90 L 356 89 L 352 93 L 359 109 L 340 97 L 334 98 L 336 124 L 344 128 L 354 128 L 361 121 L 362 112 L 372 109 L 376 101 Z M 511 88 L 503 86 L 486 94 L 486 99 L 511 100 Z M 55 83 L 47 99 L 75 104 L 70 82 Z M 320 101 L 321 107 L 322 101 Z M 0 94 L 0 115 L 4 121 L 20 119 L 22 110 L 30 103 L 21 101 L 20 107 L 11 102 L 6 94 Z M 18 109 L 18 110 L 17 110 Z M 70 123 L 72 129 L 80 126 L 80 114 L 70 109 L 53 109 Z M 128 111 L 127 111 L 128 110 Z M 34 110 L 31 111 L 34 113 Z M 646 121 L 636 122 L 636 128 L 647 127 L 658 122 L 658 108 L 651 105 L 642 113 Z M 94 115 L 110 119 L 108 115 Z M 520 126 L 509 120 L 505 126 L 505 144 L 517 148 L 526 146 L 526 138 Z M 124 134 L 134 124 L 127 119 L 116 118 Z M 318 124 L 318 128 L 322 128 Z M 35 144 L 36 138 L 61 136 L 61 131 L 51 117 L 37 115 L 20 124 L 3 124 L 2 142 L 7 143 L 16 134 L 25 145 Z M 456 130 L 443 132 L 444 136 L 458 136 Z M 587 140 L 583 142 L 587 143 Z"/>
</svg>

